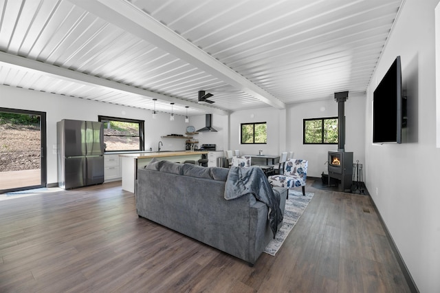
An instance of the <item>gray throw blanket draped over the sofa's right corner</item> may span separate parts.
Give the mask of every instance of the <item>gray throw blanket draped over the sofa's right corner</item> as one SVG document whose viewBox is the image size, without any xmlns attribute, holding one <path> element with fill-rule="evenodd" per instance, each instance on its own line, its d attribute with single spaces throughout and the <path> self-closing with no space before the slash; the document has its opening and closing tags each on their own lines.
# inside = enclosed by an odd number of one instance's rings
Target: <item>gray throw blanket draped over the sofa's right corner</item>
<svg viewBox="0 0 440 293">
<path fill-rule="evenodd" d="M 280 209 L 280 193 L 270 186 L 263 170 L 258 167 L 241 168 L 231 166 L 225 184 L 225 199 L 234 199 L 252 193 L 257 200 L 269 207 L 270 228 L 274 238 L 278 224 L 283 221 Z"/>
</svg>

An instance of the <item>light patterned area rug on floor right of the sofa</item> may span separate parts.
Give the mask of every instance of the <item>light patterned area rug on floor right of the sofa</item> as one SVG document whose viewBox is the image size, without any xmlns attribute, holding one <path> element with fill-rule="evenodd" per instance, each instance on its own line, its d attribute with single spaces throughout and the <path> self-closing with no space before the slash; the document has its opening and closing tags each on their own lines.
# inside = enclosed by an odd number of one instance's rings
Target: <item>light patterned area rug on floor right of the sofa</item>
<svg viewBox="0 0 440 293">
<path fill-rule="evenodd" d="M 312 197 L 314 197 L 314 193 L 305 193 L 304 196 L 301 191 L 289 189 L 289 199 L 286 200 L 283 226 L 276 233 L 275 239 L 272 239 L 267 245 L 264 252 L 270 255 L 275 255 L 278 252 L 289 232 L 292 231 L 298 219 L 303 215 Z"/>
</svg>

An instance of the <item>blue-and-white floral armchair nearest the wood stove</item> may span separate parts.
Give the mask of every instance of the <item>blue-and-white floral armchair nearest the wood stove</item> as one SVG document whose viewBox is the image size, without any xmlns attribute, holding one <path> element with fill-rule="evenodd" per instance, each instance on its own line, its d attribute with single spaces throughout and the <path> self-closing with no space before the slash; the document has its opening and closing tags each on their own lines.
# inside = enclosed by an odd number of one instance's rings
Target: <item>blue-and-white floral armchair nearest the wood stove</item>
<svg viewBox="0 0 440 293">
<path fill-rule="evenodd" d="M 305 183 L 307 180 L 307 166 L 309 162 L 306 160 L 289 159 L 284 164 L 284 173 L 282 175 L 273 175 L 267 178 L 272 186 L 285 188 L 303 187 L 303 195 L 305 195 Z"/>
</svg>

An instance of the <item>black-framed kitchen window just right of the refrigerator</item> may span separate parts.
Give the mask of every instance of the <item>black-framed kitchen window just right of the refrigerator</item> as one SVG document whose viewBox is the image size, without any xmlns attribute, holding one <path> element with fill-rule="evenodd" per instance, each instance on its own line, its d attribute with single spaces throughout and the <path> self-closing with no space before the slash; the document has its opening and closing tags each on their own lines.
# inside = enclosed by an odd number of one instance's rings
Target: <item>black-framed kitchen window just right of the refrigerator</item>
<svg viewBox="0 0 440 293">
<path fill-rule="evenodd" d="M 104 122 L 105 151 L 144 151 L 144 121 L 98 116 Z"/>
</svg>

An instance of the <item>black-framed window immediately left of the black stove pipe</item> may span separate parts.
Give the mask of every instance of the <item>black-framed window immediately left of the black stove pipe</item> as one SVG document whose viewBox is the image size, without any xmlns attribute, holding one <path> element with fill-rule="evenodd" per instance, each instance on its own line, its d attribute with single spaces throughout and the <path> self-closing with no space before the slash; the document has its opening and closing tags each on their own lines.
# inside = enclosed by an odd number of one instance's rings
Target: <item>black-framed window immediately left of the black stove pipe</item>
<svg viewBox="0 0 440 293">
<path fill-rule="evenodd" d="M 303 144 L 338 144 L 338 117 L 303 120 Z"/>
</svg>

